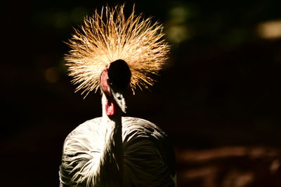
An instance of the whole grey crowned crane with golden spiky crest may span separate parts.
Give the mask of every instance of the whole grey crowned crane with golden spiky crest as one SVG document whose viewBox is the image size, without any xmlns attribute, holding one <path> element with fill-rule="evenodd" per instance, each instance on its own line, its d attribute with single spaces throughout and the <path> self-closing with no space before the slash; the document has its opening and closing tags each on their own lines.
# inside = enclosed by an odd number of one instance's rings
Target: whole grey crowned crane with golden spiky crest
<svg viewBox="0 0 281 187">
<path fill-rule="evenodd" d="M 102 116 L 67 135 L 59 169 L 64 186 L 176 186 L 174 147 L 148 120 L 124 116 L 129 91 L 149 88 L 170 46 L 162 25 L 105 6 L 74 29 L 65 55 L 76 91 L 101 93 Z"/>
</svg>

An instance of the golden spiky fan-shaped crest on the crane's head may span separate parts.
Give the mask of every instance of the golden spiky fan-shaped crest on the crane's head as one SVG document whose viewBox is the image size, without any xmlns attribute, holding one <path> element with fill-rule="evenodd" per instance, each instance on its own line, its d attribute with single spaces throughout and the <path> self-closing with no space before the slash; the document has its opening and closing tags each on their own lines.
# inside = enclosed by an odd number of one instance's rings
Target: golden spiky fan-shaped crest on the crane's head
<svg viewBox="0 0 281 187">
<path fill-rule="evenodd" d="M 99 14 L 85 18 L 81 30 L 74 29 L 69 41 L 70 52 L 65 56 L 72 83 L 76 90 L 86 95 L 100 88 L 100 74 L 115 60 L 124 60 L 131 69 L 131 89 L 148 88 L 153 85 L 152 75 L 162 69 L 169 52 L 164 41 L 162 25 L 152 23 L 151 18 L 135 15 L 134 7 L 129 18 L 125 18 L 124 5 L 105 6 Z"/>
</svg>

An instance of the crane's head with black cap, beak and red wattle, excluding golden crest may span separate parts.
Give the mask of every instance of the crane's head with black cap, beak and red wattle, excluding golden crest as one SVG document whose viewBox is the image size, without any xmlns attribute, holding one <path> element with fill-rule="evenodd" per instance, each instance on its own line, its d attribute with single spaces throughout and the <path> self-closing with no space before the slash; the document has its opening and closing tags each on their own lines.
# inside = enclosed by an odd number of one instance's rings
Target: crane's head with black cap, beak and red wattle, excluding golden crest
<svg viewBox="0 0 281 187">
<path fill-rule="evenodd" d="M 107 98 L 107 116 L 115 116 L 121 109 L 126 113 L 126 92 L 131 81 L 131 71 L 124 60 L 115 60 L 103 69 L 100 87 Z"/>
</svg>

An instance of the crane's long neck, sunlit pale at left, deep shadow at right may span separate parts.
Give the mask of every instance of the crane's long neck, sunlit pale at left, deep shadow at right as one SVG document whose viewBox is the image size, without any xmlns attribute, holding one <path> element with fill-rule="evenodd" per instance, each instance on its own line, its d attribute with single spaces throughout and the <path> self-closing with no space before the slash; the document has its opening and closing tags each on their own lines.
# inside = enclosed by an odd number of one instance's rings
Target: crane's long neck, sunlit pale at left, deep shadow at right
<svg viewBox="0 0 281 187">
<path fill-rule="evenodd" d="M 123 186 L 124 152 L 122 141 L 122 113 L 109 118 L 105 111 L 106 97 L 103 94 L 103 117 L 101 125 L 105 132 L 103 154 L 100 162 L 100 179 L 108 186 Z M 107 186 L 107 185 L 105 185 Z"/>
</svg>

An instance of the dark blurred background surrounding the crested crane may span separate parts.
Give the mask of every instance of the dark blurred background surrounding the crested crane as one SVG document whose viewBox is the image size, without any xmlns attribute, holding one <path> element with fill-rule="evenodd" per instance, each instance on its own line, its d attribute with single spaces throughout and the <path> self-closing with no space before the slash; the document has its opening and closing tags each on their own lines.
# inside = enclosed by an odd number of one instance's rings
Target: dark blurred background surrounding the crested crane
<svg viewBox="0 0 281 187">
<path fill-rule="evenodd" d="M 169 134 L 178 186 L 281 186 L 281 1 L 135 3 L 172 48 L 128 116 Z M 119 3 L 2 4 L 1 186 L 58 186 L 65 137 L 101 115 L 100 94 L 75 93 L 63 57 L 73 27 L 107 4 Z"/>
</svg>

